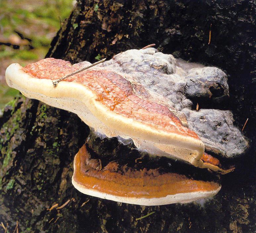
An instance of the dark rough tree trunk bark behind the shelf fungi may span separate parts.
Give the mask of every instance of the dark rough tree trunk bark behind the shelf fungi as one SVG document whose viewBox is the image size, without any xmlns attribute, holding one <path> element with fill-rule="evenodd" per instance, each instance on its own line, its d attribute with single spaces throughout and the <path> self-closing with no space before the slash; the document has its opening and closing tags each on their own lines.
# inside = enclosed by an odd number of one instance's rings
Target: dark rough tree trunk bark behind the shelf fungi
<svg viewBox="0 0 256 233">
<path fill-rule="evenodd" d="M 46 56 L 77 63 L 155 43 L 164 53 L 217 66 L 229 75 L 235 124 L 255 143 L 255 2 L 79 1 Z M 211 41 L 209 30 L 211 26 Z M 0 118 L 0 221 L 13 232 L 254 232 L 255 149 L 222 176 L 222 189 L 204 204 L 143 207 L 78 192 L 73 158 L 89 134 L 72 113 L 23 96 Z M 91 139 L 99 153 L 118 143 Z M 48 211 L 53 204 L 62 209 Z M 88 202 L 87 202 L 88 201 Z M 135 218 L 155 212 L 142 220 Z M 1 229 L 3 231 L 3 229 Z M 3 231 L 4 232 L 4 231 Z"/>
</svg>

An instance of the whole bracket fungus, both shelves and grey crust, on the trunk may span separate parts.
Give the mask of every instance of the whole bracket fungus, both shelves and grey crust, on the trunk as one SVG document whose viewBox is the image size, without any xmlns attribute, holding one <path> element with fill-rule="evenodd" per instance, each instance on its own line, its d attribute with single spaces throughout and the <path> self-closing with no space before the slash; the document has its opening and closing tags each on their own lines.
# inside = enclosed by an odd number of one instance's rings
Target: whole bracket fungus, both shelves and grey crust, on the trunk
<svg viewBox="0 0 256 233">
<path fill-rule="evenodd" d="M 190 166 L 225 174 L 233 167 L 225 167 L 210 153 L 234 157 L 248 147 L 229 111 L 192 110 L 193 98 L 216 103 L 228 97 L 227 76 L 220 69 L 188 64 L 154 48 L 128 50 L 76 72 L 86 65 L 91 63 L 72 65 L 54 58 L 24 68 L 12 64 L 6 81 L 28 98 L 76 113 L 94 132 L 121 142 L 131 139 L 139 150 Z M 115 162 L 102 170 L 95 166 L 83 146 L 74 161 L 74 186 L 115 201 L 161 205 L 213 196 L 220 190 L 213 179 L 199 181 L 154 169 L 127 170 Z"/>
</svg>

